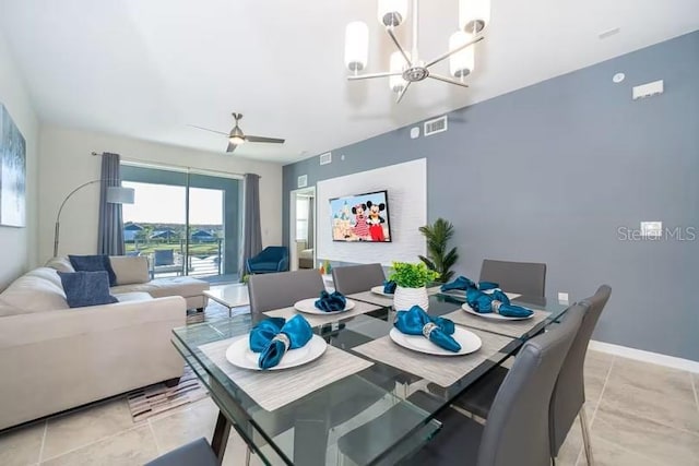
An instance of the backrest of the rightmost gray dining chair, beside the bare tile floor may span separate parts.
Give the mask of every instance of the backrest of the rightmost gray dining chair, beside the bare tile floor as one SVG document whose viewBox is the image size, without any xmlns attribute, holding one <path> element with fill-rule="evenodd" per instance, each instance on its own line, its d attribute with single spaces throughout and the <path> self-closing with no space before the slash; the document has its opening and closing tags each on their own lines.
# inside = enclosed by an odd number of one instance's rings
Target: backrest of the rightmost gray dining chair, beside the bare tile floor
<svg viewBox="0 0 699 466">
<path fill-rule="evenodd" d="M 585 403 L 584 362 L 588 344 L 597 324 L 600 314 L 609 300 L 612 288 L 602 285 L 591 298 L 580 301 L 587 312 L 582 318 L 580 330 L 572 340 L 570 350 L 564 360 L 558 381 L 550 398 L 549 430 L 552 457 L 558 451 L 576 420 L 576 416 Z"/>
</svg>

